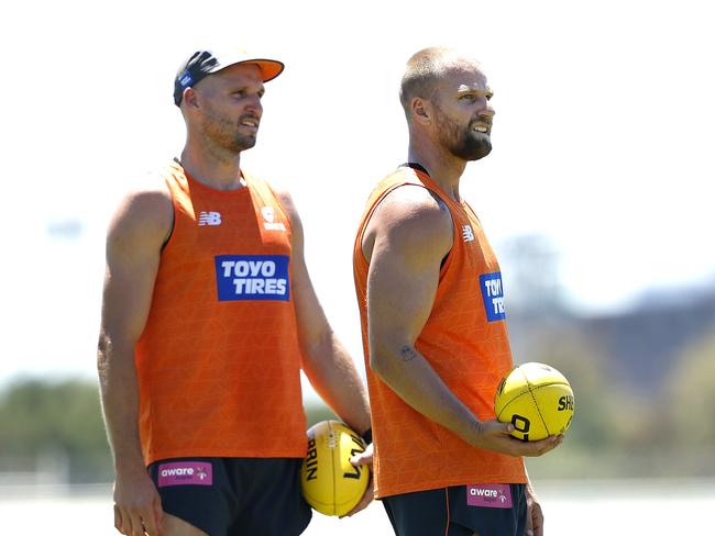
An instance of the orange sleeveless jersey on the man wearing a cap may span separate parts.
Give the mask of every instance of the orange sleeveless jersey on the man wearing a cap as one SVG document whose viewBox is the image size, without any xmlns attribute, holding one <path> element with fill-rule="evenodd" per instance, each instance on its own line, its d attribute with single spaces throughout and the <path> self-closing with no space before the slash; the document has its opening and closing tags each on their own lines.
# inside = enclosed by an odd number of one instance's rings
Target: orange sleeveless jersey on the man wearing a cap
<svg viewBox="0 0 715 536">
<path fill-rule="evenodd" d="M 271 188 L 165 174 L 174 230 L 136 345 L 146 464 L 306 454 L 290 223 Z"/>
</svg>

